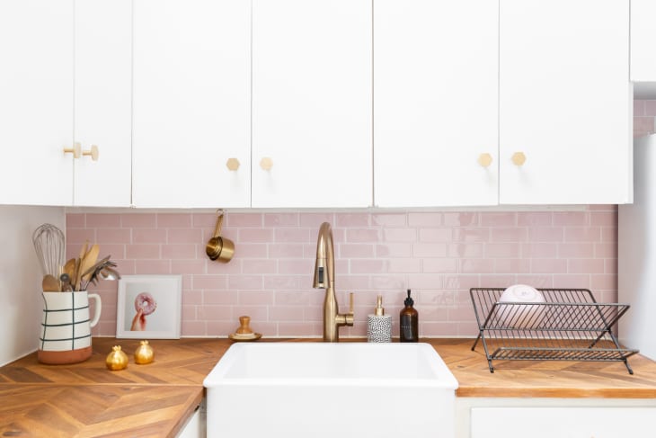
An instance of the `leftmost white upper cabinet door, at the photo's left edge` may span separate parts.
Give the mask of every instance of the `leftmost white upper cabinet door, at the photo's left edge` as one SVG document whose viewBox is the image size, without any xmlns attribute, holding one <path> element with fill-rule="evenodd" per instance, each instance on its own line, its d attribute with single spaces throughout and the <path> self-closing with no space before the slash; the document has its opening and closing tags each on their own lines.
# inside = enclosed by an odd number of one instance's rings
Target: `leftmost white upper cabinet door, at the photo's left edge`
<svg viewBox="0 0 656 438">
<path fill-rule="evenodd" d="M 73 201 L 73 0 L 0 2 L 0 203 Z"/>
</svg>

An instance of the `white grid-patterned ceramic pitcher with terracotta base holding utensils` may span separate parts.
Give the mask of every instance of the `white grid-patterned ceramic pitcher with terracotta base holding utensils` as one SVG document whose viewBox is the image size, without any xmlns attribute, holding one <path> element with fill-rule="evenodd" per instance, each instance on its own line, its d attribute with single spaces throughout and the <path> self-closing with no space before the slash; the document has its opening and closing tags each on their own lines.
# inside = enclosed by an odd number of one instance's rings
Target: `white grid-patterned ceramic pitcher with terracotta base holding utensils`
<svg viewBox="0 0 656 438">
<path fill-rule="evenodd" d="M 100 295 L 87 291 L 43 292 L 41 295 L 39 362 L 76 363 L 91 357 L 91 328 L 101 317 Z M 89 319 L 89 299 L 95 299 L 93 319 Z"/>
</svg>

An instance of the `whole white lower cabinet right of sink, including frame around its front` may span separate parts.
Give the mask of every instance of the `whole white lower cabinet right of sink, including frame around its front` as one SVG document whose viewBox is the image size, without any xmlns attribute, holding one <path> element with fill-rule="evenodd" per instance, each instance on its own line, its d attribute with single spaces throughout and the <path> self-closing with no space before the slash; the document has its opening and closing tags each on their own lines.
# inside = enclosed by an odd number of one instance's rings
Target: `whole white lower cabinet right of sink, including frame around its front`
<svg viewBox="0 0 656 438">
<path fill-rule="evenodd" d="M 653 436 L 652 399 L 458 398 L 457 438 Z"/>
</svg>

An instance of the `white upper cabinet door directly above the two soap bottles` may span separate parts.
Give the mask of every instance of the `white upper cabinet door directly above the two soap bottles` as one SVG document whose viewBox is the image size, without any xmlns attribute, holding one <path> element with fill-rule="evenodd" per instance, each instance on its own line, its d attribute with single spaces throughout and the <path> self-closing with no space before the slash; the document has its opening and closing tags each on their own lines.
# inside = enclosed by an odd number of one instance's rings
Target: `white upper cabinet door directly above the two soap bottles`
<svg viewBox="0 0 656 438">
<path fill-rule="evenodd" d="M 376 1 L 377 206 L 497 203 L 497 85 L 497 2 Z"/>
</svg>

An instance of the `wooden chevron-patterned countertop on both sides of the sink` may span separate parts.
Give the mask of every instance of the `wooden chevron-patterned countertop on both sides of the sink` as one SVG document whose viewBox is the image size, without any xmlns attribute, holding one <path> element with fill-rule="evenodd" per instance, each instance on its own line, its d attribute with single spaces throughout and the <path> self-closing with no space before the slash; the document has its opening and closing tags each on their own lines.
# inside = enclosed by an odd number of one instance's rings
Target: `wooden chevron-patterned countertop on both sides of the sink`
<svg viewBox="0 0 656 438">
<path fill-rule="evenodd" d="M 263 339 L 264 342 L 312 342 Z M 262 342 L 260 341 L 260 342 Z M 342 340 L 350 341 L 350 340 Z M 358 341 L 358 340 L 356 340 Z M 458 397 L 656 398 L 656 362 L 495 361 L 492 374 L 473 339 L 423 339 L 459 383 Z M 126 370 L 108 371 L 105 357 L 120 344 Z M 137 365 L 138 340 L 93 338 L 93 356 L 74 365 L 43 365 L 36 353 L 0 368 L 2 436 L 175 436 L 203 397 L 202 381 L 228 339 L 151 340 L 155 362 Z"/>
</svg>

